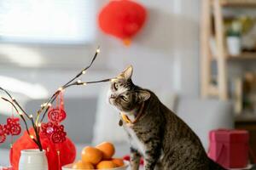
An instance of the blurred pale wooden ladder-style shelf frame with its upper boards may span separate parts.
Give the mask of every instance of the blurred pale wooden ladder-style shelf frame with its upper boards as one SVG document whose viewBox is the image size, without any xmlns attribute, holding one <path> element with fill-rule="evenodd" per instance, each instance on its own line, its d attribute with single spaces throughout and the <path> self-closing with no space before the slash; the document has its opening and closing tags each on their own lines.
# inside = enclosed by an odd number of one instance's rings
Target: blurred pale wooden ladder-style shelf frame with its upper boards
<svg viewBox="0 0 256 170">
<path fill-rule="evenodd" d="M 218 99 L 227 100 L 230 99 L 230 86 L 228 85 L 230 77 L 227 62 L 238 60 L 242 64 L 244 63 L 243 60 L 250 59 L 254 62 L 253 59 L 256 61 L 256 53 L 247 52 L 239 56 L 230 56 L 226 53 L 223 8 L 256 8 L 256 0 L 203 0 L 201 2 L 201 97 L 214 96 Z M 211 51 L 212 35 L 215 37 L 216 54 L 212 54 Z M 215 72 L 217 75 L 214 75 L 212 71 L 212 60 L 216 61 Z M 213 78 L 216 82 L 212 88 Z"/>
</svg>

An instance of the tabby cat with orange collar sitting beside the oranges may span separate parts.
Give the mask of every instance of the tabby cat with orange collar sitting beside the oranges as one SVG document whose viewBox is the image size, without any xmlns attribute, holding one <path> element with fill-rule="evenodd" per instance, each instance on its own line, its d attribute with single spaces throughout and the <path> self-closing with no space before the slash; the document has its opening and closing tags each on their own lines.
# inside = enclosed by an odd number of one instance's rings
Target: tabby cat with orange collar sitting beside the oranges
<svg viewBox="0 0 256 170">
<path fill-rule="evenodd" d="M 108 100 L 120 111 L 131 144 L 131 170 L 224 169 L 207 157 L 200 139 L 148 89 L 131 81 L 132 66 L 111 82 Z"/>
</svg>

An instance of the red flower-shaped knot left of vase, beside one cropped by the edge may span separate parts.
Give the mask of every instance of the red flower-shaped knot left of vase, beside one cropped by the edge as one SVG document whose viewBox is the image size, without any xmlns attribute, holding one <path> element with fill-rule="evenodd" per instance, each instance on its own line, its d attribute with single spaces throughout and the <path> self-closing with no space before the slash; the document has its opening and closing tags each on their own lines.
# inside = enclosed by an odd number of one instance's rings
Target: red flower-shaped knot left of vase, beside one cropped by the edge
<svg viewBox="0 0 256 170">
<path fill-rule="evenodd" d="M 4 133 L 7 135 L 19 135 L 21 132 L 20 119 L 16 117 L 9 117 L 6 125 L 3 126 Z"/>
</svg>

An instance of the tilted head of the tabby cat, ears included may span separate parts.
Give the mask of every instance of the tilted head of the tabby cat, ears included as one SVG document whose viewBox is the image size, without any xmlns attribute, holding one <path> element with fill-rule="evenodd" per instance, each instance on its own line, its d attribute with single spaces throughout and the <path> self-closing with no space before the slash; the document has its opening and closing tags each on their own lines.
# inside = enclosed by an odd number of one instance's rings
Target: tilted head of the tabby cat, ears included
<svg viewBox="0 0 256 170">
<path fill-rule="evenodd" d="M 114 79 L 108 91 L 108 101 L 119 111 L 130 112 L 150 97 L 150 93 L 138 88 L 131 81 L 132 66 L 129 66 Z"/>
</svg>

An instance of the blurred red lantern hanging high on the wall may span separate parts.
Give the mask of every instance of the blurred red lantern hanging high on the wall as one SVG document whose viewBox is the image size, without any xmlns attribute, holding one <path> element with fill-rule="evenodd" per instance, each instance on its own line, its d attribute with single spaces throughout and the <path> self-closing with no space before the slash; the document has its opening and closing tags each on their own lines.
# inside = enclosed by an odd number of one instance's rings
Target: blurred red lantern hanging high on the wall
<svg viewBox="0 0 256 170">
<path fill-rule="evenodd" d="M 122 39 L 126 45 L 141 30 L 147 17 L 146 9 L 130 0 L 110 1 L 99 14 L 103 32 Z"/>
</svg>

